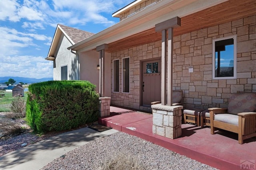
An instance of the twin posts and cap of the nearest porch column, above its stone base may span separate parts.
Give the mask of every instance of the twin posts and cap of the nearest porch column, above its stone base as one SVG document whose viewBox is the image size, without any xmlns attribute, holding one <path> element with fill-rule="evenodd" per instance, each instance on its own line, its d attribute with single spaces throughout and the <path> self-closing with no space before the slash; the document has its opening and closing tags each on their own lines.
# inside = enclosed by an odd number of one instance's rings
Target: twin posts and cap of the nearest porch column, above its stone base
<svg viewBox="0 0 256 170">
<path fill-rule="evenodd" d="M 181 20 L 179 17 L 174 17 L 170 20 L 156 24 L 156 32 L 162 32 L 162 69 L 161 69 L 161 104 L 172 106 L 172 65 L 173 65 L 173 28 L 180 27 Z M 166 93 L 166 31 L 168 30 L 168 77 L 167 77 L 167 93 Z"/>
</svg>

